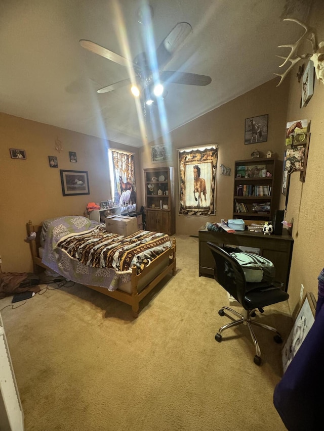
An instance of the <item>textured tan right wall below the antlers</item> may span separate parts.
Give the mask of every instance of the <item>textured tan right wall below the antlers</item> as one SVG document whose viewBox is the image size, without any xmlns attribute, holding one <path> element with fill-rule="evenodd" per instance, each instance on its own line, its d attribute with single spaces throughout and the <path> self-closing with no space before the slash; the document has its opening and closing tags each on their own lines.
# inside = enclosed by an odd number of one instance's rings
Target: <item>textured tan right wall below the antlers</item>
<svg viewBox="0 0 324 431">
<path fill-rule="evenodd" d="M 316 29 L 318 41 L 324 40 L 322 2 L 317 2 L 317 6 L 313 8 L 309 24 Z M 298 66 L 292 71 L 290 78 L 287 121 L 303 118 L 310 120 L 311 139 L 306 180 L 304 183 L 300 182 L 298 172 L 291 175 L 286 216 L 288 221 L 293 220 L 294 251 L 288 292 L 290 308 L 294 313 L 301 302 L 301 283 L 305 291 L 313 292 L 317 298 L 317 277 L 324 267 L 324 84 L 315 78 L 313 97 L 306 107 L 300 108 L 301 84 L 296 79 L 297 70 Z M 282 146 L 282 151 L 284 149 Z M 284 201 L 282 196 L 283 206 Z"/>
</svg>

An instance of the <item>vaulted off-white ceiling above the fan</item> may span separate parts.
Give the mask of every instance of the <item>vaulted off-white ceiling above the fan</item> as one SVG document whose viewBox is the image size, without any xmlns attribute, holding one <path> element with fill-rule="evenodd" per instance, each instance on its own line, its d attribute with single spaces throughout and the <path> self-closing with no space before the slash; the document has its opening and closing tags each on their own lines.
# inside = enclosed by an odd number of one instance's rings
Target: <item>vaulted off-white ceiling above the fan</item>
<svg viewBox="0 0 324 431">
<path fill-rule="evenodd" d="M 310 3 L 150 0 L 145 20 L 141 0 L 2 0 L 0 111 L 141 147 L 273 79 L 281 64 L 275 55 L 289 52 L 277 45 L 302 32 L 282 19 L 306 21 Z M 209 85 L 166 83 L 166 98 L 150 107 L 130 85 L 97 93 L 133 72 L 84 49 L 80 39 L 134 60 L 154 53 L 179 22 L 192 32 L 164 69 L 210 76 Z"/>
</svg>

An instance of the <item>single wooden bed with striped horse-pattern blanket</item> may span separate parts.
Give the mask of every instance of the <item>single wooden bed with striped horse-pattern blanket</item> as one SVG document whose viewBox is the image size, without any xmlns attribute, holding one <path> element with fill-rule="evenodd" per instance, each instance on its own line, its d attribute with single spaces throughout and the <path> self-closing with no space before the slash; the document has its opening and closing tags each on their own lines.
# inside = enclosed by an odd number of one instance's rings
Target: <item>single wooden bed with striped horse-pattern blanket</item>
<svg viewBox="0 0 324 431">
<path fill-rule="evenodd" d="M 34 233 L 33 233 L 34 232 Z M 132 307 L 168 273 L 176 274 L 176 241 L 158 232 L 121 236 L 82 216 L 27 223 L 34 272 L 42 268 Z"/>
</svg>

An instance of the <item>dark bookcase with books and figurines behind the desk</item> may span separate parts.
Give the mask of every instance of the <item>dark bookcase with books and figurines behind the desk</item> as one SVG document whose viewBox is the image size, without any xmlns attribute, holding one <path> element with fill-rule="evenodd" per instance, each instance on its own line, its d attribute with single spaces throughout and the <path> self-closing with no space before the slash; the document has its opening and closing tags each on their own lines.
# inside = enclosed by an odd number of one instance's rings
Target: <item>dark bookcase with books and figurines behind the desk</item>
<svg viewBox="0 0 324 431">
<path fill-rule="evenodd" d="M 273 220 L 279 203 L 280 162 L 273 158 L 237 160 L 234 172 L 233 218 Z"/>
</svg>

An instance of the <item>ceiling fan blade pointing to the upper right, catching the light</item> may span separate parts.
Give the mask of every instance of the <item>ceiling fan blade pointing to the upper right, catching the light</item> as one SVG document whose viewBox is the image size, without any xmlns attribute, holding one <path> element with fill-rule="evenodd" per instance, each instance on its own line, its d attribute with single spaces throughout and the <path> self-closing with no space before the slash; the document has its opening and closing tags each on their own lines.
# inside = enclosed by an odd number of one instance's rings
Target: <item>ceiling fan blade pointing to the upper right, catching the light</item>
<svg viewBox="0 0 324 431">
<path fill-rule="evenodd" d="M 173 27 L 156 49 L 156 60 L 159 69 L 171 60 L 174 52 L 182 45 L 190 33 L 192 33 L 192 27 L 187 22 L 178 22 Z"/>
</svg>

